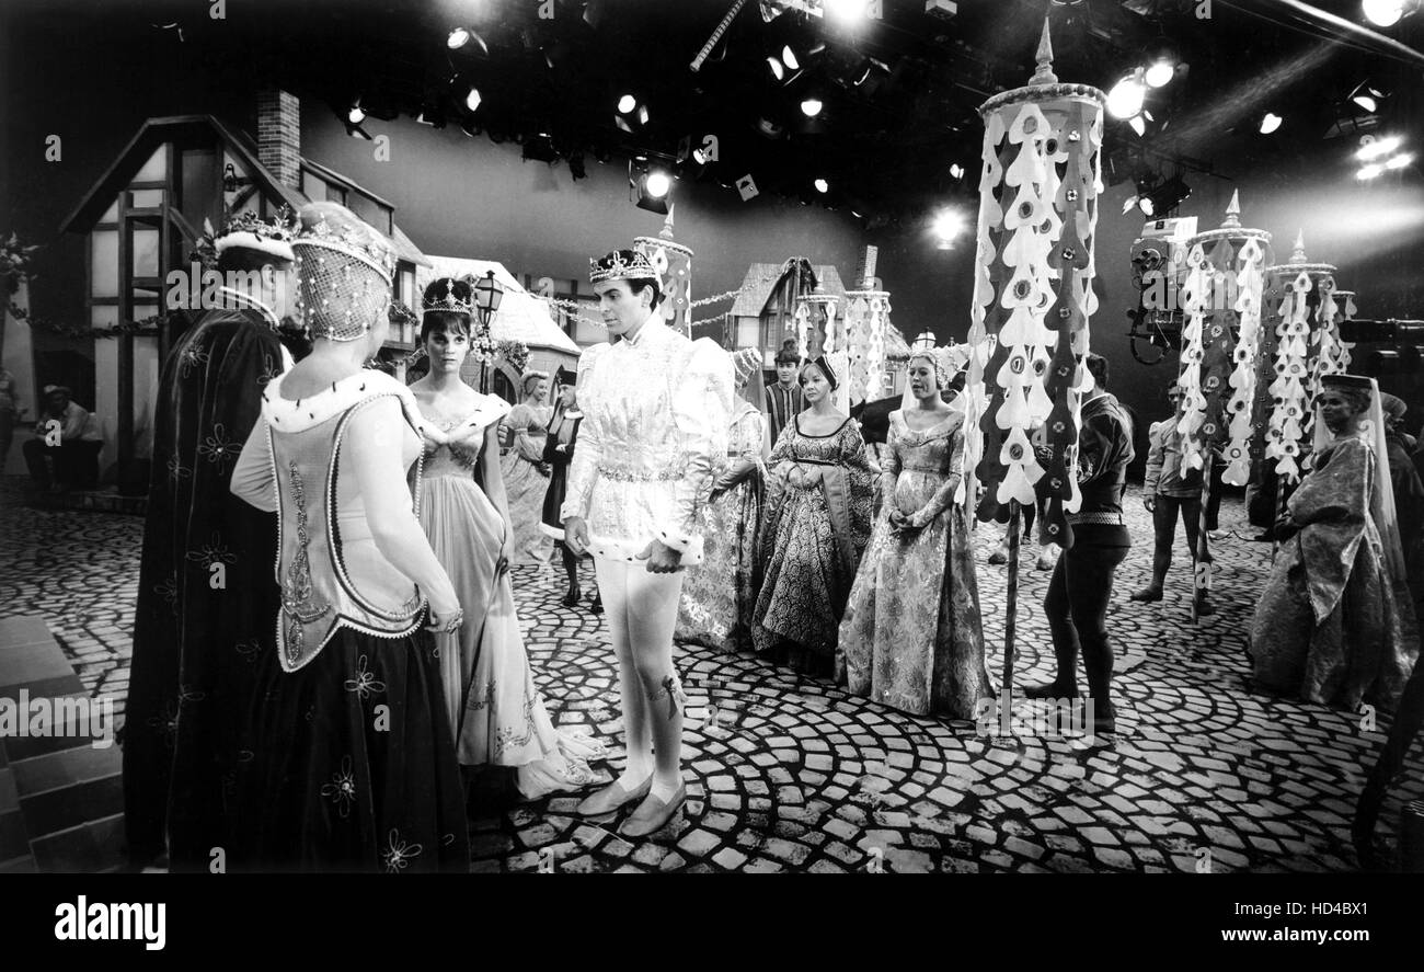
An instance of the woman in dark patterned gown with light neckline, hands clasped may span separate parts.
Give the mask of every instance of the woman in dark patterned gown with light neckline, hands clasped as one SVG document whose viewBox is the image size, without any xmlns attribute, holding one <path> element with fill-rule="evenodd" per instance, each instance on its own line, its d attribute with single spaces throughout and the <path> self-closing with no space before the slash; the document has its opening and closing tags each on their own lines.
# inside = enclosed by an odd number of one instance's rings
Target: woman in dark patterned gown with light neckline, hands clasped
<svg viewBox="0 0 1424 972">
<path fill-rule="evenodd" d="M 840 613 L 870 537 L 874 466 L 854 419 L 836 409 L 824 358 L 800 372 L 809 408 L 782 429 L 768 460 L 752 638 L 797 670 L 830 674 Z"/>
</svg>

